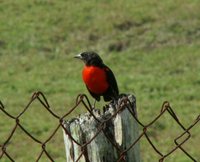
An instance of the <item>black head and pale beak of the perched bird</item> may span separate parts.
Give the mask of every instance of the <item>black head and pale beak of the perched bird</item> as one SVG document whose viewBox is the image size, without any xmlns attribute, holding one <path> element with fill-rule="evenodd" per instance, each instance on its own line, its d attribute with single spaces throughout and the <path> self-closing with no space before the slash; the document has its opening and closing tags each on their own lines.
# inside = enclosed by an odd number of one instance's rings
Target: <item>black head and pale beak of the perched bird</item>
<svg viewBox="0 0 200 162">
<path fill-rule="evenodd" d="M 91 66 L 91 65 L 102 66 L 103 65 L 103 60 L 101 59 L 101 57 L 93 51 L 82 52 L 76 55 L 75 58 L 81 59 L 87 66 Z"/>
</svg>

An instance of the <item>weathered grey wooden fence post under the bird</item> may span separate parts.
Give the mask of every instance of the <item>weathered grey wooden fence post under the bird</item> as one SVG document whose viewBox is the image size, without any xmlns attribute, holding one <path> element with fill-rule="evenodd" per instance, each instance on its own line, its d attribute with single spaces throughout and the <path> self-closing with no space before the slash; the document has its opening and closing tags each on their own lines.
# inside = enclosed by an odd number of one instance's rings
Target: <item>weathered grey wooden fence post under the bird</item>
<svg viewBox="0 0 200 162">
<path fill-rule="evenodd" d="M 128 97 L 128 101 L 126 102 Z M 123 102 L 124 101 L 124 102 Z M 130 147 L 139 137 L 138 123 L 129 110 L 136 114 L 136 99 L 123 96 L 118 104 L 110 103 L 101 114 L 94 109 L 64 122 L 67 162 L 140 162 L 139 142 Z"/>
</svg>

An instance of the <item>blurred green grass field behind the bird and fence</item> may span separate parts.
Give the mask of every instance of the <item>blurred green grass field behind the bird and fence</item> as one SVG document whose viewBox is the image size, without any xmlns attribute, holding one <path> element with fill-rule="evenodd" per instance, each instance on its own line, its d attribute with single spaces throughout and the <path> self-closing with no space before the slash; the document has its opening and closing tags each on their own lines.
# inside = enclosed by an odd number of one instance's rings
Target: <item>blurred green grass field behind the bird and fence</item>
<svg viewBox="0 0 200 162">
<path fill-rule="evenodd" d="M 187 127 L 200 112 L 199 8 L 198 0 L 1 0 L 0 100 L 17 115 L 33 92 L 40 90 L 57 114 L 66 113 L 79 93 L 88 94 L 81 81 L 83 65 L 73 56 L 95 50 L 114 71 L 120 92 L 137 97 L 143 123 L 156 117 L 168 100 Z M 42 140 L 58 124 L 38 103 L 21 122 Z M 14 121 L 0 113 L 0 144 L 13 126 Z M 197 160 L 199 132 L 198 124 L 184 145 Z M 165 154 L 181 129 L 166 115 L 149 133 Z M 65 161 L 61 130 L 47 148 L 55 161 Z M 18 130 L 7 150 L 16 161 L 35 161 L 41 147 Z M 143 139 L 144 162 L 158 161 L 151 150 Z M 1 161 L 9 160 L 4 156 Z M 44 156 L 41 161 L 48 160 Z M 166 161 L 189 159 L 177 151 Z"/>
</svg>

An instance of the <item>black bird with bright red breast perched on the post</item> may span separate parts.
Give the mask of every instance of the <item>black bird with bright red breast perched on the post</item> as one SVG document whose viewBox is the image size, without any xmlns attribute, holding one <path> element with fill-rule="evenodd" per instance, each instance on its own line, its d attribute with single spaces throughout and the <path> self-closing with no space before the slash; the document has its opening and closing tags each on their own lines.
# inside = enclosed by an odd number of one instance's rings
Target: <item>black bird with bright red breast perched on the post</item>
<svg viewBox="0 0 200 162">
<path fill-rule="evenodd" d="M 117 81 L 101 57 L 94 51 L 82 52 L 74 57 L 85 64 L 82 79 L 95 102 L 100 101 L 101 97 L 105 102 L 116 101 L 119 96 Z"/>
</svg>

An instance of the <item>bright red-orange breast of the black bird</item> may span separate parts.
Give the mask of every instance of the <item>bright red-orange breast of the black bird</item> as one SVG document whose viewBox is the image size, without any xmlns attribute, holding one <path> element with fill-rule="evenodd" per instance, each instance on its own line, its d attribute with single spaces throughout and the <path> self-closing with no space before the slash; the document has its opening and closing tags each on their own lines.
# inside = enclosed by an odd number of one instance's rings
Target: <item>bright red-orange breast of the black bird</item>
<svg viewBox="0 0 200 162">
<path fill-rule="evenodd" d="M 95 94 L 102 94 L 108 89 L 104 68 L 85 66 L 82 71 L 83 81 L 88 89 Z"/>
</svg>

